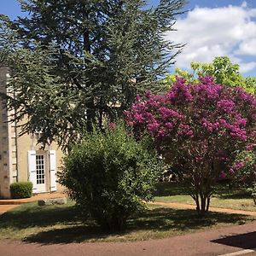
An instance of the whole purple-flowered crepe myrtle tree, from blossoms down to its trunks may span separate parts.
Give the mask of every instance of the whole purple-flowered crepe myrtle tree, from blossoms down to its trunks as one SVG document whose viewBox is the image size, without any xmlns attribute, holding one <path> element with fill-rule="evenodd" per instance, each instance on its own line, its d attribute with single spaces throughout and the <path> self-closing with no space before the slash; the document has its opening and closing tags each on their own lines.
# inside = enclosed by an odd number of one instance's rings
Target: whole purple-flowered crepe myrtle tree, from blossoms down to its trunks
<svg viewBox="0 0 256 256">
<path fill-rule="evenodd" d="M 166 163 L 183 173 L 181 179 L 203 215 L 216 181 L 255 139 L 256 99 L 210 77 L 196 84 L 179 78 L 165 95 L 147 91 L 137 96 L 125 118 L 138 139 L 150 135 Z"/>
</svg>

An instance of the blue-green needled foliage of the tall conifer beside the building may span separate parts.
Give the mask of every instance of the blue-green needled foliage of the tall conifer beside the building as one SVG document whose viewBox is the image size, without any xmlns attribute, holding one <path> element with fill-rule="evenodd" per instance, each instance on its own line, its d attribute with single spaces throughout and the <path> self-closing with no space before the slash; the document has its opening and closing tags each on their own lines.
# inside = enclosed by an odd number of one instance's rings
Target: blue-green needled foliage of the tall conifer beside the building
<svg viewBox="0 0 256 256">
<path fill-rule="evenodd" d="M 39 143 L 65 146 L 81 127 L 120 115 L 137 91 L 157 90 L 182 47 L 162 35 L 184 0 L 154 8 L 143 0 L 20 3 L 28 16 L 0 17 L 0 59 L 12 71 L 9 108 L 18 121 L 28 117 L 24 132 L 43 131 Z"/>
</svg>

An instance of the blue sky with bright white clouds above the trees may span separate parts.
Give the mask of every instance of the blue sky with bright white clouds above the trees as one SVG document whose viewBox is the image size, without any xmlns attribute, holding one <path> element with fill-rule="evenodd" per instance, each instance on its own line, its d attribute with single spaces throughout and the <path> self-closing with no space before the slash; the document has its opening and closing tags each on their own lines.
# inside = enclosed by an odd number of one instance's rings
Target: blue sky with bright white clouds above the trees
<svg viewBox="0 0 256 256">
<path fill-rule="evenodd" d="M 177 32 L 166 34 L 175 43 L 186 44 L 176 67 L 189 69 L 191 61 L 210 62 L 228 55 L 241 73 L 256 76 L 256 0 L 191 0 L 185 9 L 189 12 L 178 18 Z M 1 0 L 0 13 L 11 19 L 26 15 L 16 0 Z"/>
</svg>

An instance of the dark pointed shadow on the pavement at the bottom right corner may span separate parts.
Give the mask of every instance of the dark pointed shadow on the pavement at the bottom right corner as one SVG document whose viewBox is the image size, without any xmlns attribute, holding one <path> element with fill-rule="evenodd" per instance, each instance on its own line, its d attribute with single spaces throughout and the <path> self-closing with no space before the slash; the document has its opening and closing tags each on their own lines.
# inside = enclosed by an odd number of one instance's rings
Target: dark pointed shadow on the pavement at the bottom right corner
<svg viewBox="0 0 256 256">
<path fill-rule="evenodd" d="M 236 236 L 225 236 L 217 240 L 212 240 L 212 242 L 224 244 L 230 247 L 251 249 L 256 247 L 256 231 Z"/>
</svg>

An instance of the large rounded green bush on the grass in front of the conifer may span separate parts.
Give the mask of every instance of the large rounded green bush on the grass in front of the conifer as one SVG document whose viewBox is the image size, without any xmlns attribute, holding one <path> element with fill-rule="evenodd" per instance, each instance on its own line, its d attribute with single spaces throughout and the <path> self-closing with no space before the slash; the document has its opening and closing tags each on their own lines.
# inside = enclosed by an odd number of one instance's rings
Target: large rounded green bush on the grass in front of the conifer
<svg viewBox="0 0 256 256">
<path fill-rule="evenodd" d="M 103 227 L 122 229 L 143 201 L 152 200 L 159 173 L 155 154 L 143 149 L 123 125 L 86 133 L 64 159 L 59 182 Z"/>
</svg>

